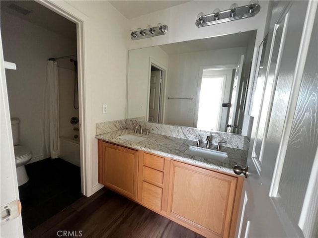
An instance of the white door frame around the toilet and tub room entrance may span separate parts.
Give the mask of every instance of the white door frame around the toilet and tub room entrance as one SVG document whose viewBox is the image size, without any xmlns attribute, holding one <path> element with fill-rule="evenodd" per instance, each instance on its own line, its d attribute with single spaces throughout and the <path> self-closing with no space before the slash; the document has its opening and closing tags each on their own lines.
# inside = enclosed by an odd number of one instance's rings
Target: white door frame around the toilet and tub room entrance
<svg viewBox="0 0 318 238">
<path fill-rule="evenodd" d="M 84 44 L 85 32 L 87 32 L 88 18 L 79 10 L 65 1 L 38 0 L 38 3 L 76 23 L 77 27 L 77 57 L 78 57 L 78 85 L 79 85 L 79 141 L 80 141 L 80 178 L 81 192 L 85 196 L 90 196 L 100 189 L 101 185 L 92 186 L 92 155 L 89 127 L 90 115 L 88 95 L 87 95 L 87 70 L 85 69 L 85 52 L 87 46 Z"/>
</svg>

